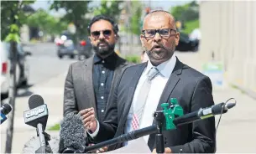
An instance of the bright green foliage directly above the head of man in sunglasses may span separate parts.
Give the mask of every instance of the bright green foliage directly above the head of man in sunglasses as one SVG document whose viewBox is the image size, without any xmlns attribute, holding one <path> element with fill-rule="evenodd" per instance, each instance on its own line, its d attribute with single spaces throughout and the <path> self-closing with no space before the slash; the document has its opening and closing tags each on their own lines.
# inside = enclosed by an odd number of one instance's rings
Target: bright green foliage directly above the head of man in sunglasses
<svg viewBox="0 0 256 154">
<path fill-rule="evenodd" d="M 105 14 L 114 18 L 118 22 L 120 13 L 123 9 L 123 1 L 107 1 L 102 0 L 99 8 L 94 8 L 94 15 Z"/>
</svg>

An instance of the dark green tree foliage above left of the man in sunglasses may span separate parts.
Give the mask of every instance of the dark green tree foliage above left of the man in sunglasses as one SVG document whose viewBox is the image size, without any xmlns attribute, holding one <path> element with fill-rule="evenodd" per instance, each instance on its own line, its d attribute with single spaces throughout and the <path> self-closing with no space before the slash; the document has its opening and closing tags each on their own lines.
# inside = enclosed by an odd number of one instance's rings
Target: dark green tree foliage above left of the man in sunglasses
<svg viewBox="0 0 256 154">
<path fill-rule="evenodd" d="M 54 1 L 50 9 L 58 11 L 60 8 L 65 10 L 64 17 L 60 18 L 60 22 L 74 23 L 76 26 L 76 38 L 86 35 L 89 19 L 86 14 L 90 13 L 88 7 L 91 1 Z"/>
</svg>

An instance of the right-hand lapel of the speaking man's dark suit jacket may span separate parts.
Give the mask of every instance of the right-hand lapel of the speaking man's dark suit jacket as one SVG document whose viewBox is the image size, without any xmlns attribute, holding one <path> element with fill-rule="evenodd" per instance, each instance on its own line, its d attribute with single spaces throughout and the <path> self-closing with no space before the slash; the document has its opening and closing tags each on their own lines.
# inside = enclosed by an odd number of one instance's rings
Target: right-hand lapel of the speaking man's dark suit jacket
<svg viewBox="0 0 256 154">
<path fill-rule="evenodd" d="M 156 110 L 162 110 L 161 104 L 169 102 L 168 99 L 169 99 L 172 91 L 175 89 L 175 86 L 180 81 L 179 75 L 182 73 L 183 66 L 184 66 L 184 64 L 182 64 L 180 62 L 180 60 L 178 58 L 176 58 L 175 68 L 174 68 L 172 74 L 170 74 L 170 78 L 165 85 L 165 89 L 163 90 L 163 93 L 160 97 L 159 104 L 158 104 Z M 154 121 L 153 121 L 152 125 L 154 125 Z M 151 150 L 153 150 L 153 148 L 154 148 L 154 141 L 155 141 L 154 135 L 150 135 L 149 141 L 148 141 L 148 146 Z"/>
</svg>

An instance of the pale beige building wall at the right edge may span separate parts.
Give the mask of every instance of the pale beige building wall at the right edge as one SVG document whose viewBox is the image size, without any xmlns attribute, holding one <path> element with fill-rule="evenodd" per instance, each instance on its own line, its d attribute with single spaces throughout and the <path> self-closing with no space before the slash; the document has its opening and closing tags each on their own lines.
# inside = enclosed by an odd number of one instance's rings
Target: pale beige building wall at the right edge
<svg viewBox="0 0 256 154">
<path fill-rule="evenodd" d="M 212 55 L 229 84 L 256 92 L 256 1 L 200 2 L 201 59 Z"/>
</svg>

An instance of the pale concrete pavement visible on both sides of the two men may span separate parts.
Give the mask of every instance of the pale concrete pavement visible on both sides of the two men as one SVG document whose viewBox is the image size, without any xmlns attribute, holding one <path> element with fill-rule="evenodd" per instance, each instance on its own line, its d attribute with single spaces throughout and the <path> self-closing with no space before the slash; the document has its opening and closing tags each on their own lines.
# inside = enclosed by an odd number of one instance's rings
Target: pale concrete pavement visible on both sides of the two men
<svg viewBox="0 0 256 154">
<path fill-rule="evenodd" d="M 201 60 L 197 53 L 177 53 L 178 58 L 185 64 L 201 70 Z M 59 74 L 50 80 L 45 80 L 39 85 L 30 88 L 29 91 L 34 94 L 42 95 L 44 102 L 49 108 L 48 126 L 54 125 L 60 121 L 62 117 L 62 102 L 63 102 L 63 86 L 65 74 Z M 226 82 L 227 83 L 227 82 Z M 256 100 L 253 100 L 248 95 L 243 94 L 241 90 L 233 89 L 227 84 L 223 88 L 213 88 L 213 97 L 215 103 L 223 102 L 230 97 L 237 100 L 237 106 L 229 110 L 227 114 L 222 115 L 220 126 L 217 130 L 217 152 L 232 153 L 232 152 L 256 152 L 256 144 L 253 141 L 256 138 Z M 23 121 L 24 110 L 29 109 L 29 96 L 20 97 L 17 99 L 15 112 L 15 125 L 13 135 L 13 152 L 21 152 L 24 143 L 29 141 L 32 136 L 36 135 L 33 127 L 26 126 Z M 216 117 L 218 121 L 219 116 Z M 1 152 L 4 152 L 5 147 L 5 129 L 4 123 L 1 126 Z M 50 135 L 58 135 L 58 131 L 47 131 Z"/>
</svg>

